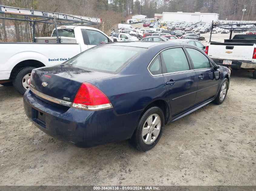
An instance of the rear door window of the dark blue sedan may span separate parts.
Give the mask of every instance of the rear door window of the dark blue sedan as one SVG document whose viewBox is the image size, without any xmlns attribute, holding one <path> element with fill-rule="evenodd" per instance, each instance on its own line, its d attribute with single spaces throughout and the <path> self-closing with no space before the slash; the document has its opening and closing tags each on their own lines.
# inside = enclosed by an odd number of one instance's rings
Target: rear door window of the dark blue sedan
<svg viewBox="0 0 256 191">
<path fill-rule="evenodd" d="M 161 53 L 167 73 L 190 70 L 187 57 L 182 48 L 167 49 Z"/>
</svg>

